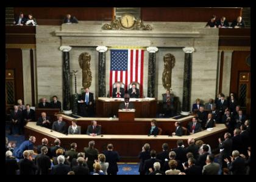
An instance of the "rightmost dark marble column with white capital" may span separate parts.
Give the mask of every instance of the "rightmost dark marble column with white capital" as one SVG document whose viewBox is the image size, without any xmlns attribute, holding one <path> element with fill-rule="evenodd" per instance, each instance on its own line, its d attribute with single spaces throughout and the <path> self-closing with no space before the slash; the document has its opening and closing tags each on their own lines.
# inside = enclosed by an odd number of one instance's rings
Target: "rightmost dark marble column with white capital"
<svg viewBox="0 0 256 182">
<path fill-rule="evenodd" d="M 182 112 L 181 115 L 190 114 L 190 99 L 191 99 L 191 75 L 192 75 L 192 53 L 193 47 L 183 48 L 185 52 L 184 74 L 183 74 L 183 95 L 182 95 Z"/>
</svg>

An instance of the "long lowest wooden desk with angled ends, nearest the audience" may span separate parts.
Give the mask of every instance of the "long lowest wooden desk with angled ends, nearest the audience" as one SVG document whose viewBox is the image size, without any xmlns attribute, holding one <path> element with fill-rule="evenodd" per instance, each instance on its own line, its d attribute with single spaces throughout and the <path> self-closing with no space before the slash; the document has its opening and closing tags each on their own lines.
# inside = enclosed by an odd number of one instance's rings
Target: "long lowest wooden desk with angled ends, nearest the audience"
<svg viewBox="0 0 256 182">
<path fill-rule="evenodd" d="M 103 135 L 103 136 L 89 136 L 89 135 L 64 135 L 52 131 L 41 126 L 37 126 L 34 122 L 29 122 L 25 126 L 26 140 L 29 136 L 35 136 L 35 146 L 41 144 L 42 138 L 48 138 L 49 144 L 54 144 L 54 140 L 59 138 L 61 146 L 65 149 L 69 149 L 71 143 L 77 143 L 77 152 L 83 152 L 84 147 L 88 146 L 88 142 L 95 141 L 95 148 L 102 152 L 107 149 L 107 144 L 112 143 L 114 149 L 118 151 L 121 156 L 121 161 L 139 161 L 138 154 L 141 151 L 141 147 L 145 143 L 151 145 L 151 149 L 157 152 L 162 151 L 162 144 L 168 143 L 169 149 L 177 147 L 177 140 L 183 140 L 185 146 L 187 146 L 188 138 L 193 137 L 195 140 L 203 140 L 204 143 L 210 144 L 213 149 L 218 148 L 218 138 L 223 137 L 226 132 L 226 126 L 224 124 L 216 124 L 216 127 L 212 131 L 204 130 L 199 133 L 195 133 L 190 136 L 147 136 L 147 135 Z"/>
</svg>

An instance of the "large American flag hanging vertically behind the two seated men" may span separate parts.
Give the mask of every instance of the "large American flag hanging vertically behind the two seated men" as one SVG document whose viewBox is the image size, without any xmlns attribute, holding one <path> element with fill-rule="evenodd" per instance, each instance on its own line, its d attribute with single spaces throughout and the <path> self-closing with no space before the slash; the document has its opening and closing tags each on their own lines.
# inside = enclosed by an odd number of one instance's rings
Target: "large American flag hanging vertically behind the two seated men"
<svg viewBox="0 0 256 182">
<path fill-rule="evenodd" d="M 140 97 L 143 95 L 143 59 L 142 49 L 112 49 L 110 50 L 110 96 L 112 96 L 113 84 L 121 81 L 125 84 L 125 90 L 132 82 L 140 84 Z"/>
</svg>

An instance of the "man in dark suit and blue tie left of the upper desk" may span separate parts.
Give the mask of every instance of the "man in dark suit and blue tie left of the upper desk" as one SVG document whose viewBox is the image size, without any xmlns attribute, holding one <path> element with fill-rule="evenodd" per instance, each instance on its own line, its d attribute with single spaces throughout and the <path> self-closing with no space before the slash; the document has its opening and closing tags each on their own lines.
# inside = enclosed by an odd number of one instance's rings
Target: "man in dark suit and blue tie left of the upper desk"
<svg viewBox="0 0 256 182">
<path fill-rule="evenodd" d="M 94 110 L 94 98 L 93 93 L 89 88 L 85 88 L 85 92 L 80 97 L 80 112 L 84 116 L 92 116 Z"/>
</svg>

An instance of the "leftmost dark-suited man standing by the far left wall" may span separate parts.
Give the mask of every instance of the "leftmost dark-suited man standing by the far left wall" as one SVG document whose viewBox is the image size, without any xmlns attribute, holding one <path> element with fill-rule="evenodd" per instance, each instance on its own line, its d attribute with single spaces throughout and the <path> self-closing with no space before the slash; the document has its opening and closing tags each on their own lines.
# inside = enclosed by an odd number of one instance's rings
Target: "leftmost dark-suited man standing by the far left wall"
<svg viewBox="0 0 256 182">
<path fill-rule="evenodd" d="M 10 133 L 18 132 L 20 135 L 23 132 L 23 116 L 21 110 L 18 110 L 18 106 L 13 106 L 14 110 L 10 112 Z"/>
</svg>

